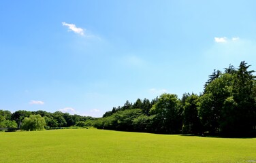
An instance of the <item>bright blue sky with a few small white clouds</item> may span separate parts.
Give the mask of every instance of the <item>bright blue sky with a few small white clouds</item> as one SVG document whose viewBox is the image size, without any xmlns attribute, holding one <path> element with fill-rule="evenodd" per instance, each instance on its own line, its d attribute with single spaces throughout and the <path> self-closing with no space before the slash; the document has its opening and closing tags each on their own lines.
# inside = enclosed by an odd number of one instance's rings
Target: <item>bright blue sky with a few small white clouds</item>
<svg viewBox="0 0 256 163">
<path fill-rule="evenodd" d="M 256 70 L 256 1 L 2 1 L 0 109 L 101 117 Z"/>
</svg>

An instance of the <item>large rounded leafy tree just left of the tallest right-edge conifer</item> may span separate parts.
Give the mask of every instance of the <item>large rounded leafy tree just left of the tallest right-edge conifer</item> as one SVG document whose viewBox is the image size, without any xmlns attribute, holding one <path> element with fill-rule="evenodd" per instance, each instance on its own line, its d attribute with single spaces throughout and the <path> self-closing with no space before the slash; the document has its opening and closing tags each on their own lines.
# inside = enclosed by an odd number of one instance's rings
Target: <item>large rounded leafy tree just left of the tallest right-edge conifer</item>
<svg viewBox="0 0 256 163">
<path fill-rule="evenodd" d="M 223 104 L 231 96 L 234 86 L 234 75 L 225 73 L 210 82 L 200 97 L 199 115 L 204 124 L 204 130 L 213 133 L 220 132 Z"/>
</svg>

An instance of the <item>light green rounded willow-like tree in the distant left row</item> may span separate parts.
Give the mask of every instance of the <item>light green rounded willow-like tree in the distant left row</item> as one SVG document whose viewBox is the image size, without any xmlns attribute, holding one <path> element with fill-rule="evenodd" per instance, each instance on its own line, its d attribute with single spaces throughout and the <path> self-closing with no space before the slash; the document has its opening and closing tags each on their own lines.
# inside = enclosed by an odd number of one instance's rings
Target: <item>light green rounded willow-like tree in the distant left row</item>
<svg viewBox="0 0 256 163">
<path fill-rule="evenodd" d="M 34 131 L 34 130 L 44 130 L 46 126 L 46 121 L 41 115 L 30 115 L 25 117 L 22 121 L 22 130 Z"/>
</svg>

